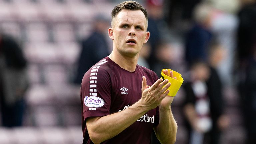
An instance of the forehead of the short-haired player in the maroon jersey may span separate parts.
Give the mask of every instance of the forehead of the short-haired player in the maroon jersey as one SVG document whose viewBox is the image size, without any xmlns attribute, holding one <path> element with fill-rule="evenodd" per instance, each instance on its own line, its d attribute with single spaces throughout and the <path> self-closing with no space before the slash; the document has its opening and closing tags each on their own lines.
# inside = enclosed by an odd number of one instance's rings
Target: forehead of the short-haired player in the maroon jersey
<svg viewBox="0 0 256 144">
<path fill-rule="evenodd" d="M 118 15 L 116 16 L 117 23 L 139 23 L 139 24 L 146 24 L 146 17 L 141 10 L 121 10 Z"/>
</svg>

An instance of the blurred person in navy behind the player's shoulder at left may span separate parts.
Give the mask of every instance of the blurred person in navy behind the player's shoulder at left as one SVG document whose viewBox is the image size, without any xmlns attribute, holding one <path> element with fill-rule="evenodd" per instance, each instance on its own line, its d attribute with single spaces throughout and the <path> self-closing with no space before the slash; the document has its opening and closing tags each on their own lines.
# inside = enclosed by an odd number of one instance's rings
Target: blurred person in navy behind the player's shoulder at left
<svg viewBox="0 0 256 144">
<path fill-rule="evenodd" d="M 93 32 L 87 39 L 82 40 L 82 51 L 78 59 L 77 74 L 74 83 L 81 84 L 87 70 L 102 58 L 109 55 L 106 29 L 109 20 L 101 14 L 93 22 Z"/>
</svg>

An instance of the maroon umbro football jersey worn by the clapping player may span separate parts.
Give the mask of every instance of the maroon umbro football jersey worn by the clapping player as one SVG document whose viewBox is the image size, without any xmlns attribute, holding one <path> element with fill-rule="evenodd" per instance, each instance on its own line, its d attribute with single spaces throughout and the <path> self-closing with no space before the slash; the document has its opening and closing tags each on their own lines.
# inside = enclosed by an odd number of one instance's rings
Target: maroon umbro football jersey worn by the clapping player
<svg viewBox="0 0 256 144">
<path fill-rule="evenodd" d="M 102 59 L 86 72 L 80 90 L 84 144 L 92 143 L 85 119 L 121 112 L 141 99 L 142 76 L 146 77 L 148 86 L 158 80 L 158 76 L 145 67 L 137 65 L 134 72 L 129 72 L 109 57 Z M 153 127 L 158 123 L 157 107 L 103 144 L 149 144 Z"/>
</svg>

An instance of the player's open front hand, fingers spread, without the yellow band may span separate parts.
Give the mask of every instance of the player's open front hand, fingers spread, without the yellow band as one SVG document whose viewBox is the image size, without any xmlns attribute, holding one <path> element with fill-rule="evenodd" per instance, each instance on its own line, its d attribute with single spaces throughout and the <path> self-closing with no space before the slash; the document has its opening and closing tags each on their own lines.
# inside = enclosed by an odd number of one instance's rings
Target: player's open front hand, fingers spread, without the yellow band
<svg viewBox="0 0 256 144">
<path fill-rule="evenodd" d="M 168 80 L 158 79 L 151 87 L 147 88 L 147 80 L 146 77 L 142 77 L 142 96 L 141 101 L 143 102 L 144 106 L 148 107 L 149 110 L 156 108 L 163 98 L 167 96 L 170 87 L 170 83 Z M 163 87 L 166 85 L 165 87 Z"/>
</svg>

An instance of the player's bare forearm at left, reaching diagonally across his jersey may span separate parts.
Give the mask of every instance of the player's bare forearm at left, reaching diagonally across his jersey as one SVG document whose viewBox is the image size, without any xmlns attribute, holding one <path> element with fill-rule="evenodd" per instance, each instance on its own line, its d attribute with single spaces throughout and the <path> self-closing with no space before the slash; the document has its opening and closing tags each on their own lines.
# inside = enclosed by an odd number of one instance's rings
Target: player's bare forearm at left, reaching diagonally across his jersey
<svg viewBox="0 0 256 144">
<path fill-rule="evenodd" d="M 86 119 L 89 136 L 94 143 L 101 143 L 132 125 L 148 111 L 140 101 L 121 112 L 100 117 Z"/>
</svg>

